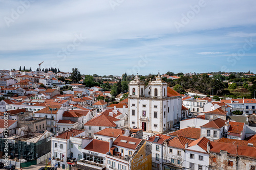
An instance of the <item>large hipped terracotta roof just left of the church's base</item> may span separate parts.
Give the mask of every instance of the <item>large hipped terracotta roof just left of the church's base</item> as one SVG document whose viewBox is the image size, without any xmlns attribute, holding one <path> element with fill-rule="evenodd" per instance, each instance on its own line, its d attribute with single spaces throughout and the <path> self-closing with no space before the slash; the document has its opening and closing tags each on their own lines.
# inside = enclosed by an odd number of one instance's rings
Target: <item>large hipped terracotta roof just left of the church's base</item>
<svg viewBox="0 0 256 170">
<path fill-rule="evenodd" d="M 99 114 L 89 120 L 84 126 L 104 126 L 104 127 L 116 127 L 114 122 L 118 121 L 115 117 L 106 114 Z"/>
</svg>

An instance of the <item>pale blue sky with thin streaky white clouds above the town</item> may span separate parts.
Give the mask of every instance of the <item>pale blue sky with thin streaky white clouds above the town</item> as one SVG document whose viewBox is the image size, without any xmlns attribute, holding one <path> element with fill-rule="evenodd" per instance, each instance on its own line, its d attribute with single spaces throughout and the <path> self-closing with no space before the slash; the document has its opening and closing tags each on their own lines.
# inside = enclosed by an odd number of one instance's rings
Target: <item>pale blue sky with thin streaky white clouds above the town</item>
<svg viewBox="0 0 256 170">
<path fill-rule="evenodd" d="M 256 72 L 256 1 L 0 0 L 0 69 Z"/>
</svg>

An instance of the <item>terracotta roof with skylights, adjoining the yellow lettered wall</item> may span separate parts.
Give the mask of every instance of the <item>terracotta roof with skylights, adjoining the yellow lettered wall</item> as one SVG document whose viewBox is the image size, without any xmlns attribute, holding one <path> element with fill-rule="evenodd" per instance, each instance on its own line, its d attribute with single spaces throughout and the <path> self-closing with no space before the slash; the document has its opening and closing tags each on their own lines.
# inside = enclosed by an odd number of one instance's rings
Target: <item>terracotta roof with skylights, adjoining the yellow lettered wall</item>
<svg viewBox="0 0 256 170">
<path fill-rule="evenodd" d="M 113 142 L 113 145 L 117 145 L 119 147 L 135 150 L 138 147 L 138 145 L 140 144 L 141 141 L 142 141 L 142 139 L 138 139 L 138 138 L 134 138 L 134 137 L 121 136 L 120 135 Z"/>
</svg>

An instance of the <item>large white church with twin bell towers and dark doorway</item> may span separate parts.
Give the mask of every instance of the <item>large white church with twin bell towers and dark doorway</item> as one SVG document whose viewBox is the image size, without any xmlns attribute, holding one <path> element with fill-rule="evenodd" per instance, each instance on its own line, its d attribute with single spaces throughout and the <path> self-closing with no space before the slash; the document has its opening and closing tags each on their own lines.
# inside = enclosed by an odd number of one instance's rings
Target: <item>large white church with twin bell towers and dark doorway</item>
<svg viewBox="0 0 256 170">
<path fill-rule="evenodd" d="M 158 75 L 148 85 L 138 75 L 129 83 L 128 122 L 130 128 L 164 133 L 181 120 L 182 95 L 167 86 Z"/>
</svg>

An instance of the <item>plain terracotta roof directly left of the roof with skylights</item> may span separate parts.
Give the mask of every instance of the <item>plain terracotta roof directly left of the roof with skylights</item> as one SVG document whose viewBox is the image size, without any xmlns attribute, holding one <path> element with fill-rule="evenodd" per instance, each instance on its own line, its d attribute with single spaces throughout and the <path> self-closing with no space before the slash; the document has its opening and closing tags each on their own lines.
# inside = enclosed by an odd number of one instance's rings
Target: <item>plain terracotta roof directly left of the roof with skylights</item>
<svg viewBox="0 0 256 170">
<path fill-rule="evenodd" d="M 84 150 L 106 154 L 110 151 L 110 142 L 93 139 Z"/>
</svg>

